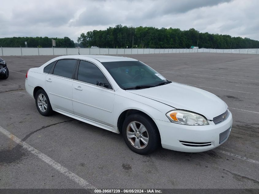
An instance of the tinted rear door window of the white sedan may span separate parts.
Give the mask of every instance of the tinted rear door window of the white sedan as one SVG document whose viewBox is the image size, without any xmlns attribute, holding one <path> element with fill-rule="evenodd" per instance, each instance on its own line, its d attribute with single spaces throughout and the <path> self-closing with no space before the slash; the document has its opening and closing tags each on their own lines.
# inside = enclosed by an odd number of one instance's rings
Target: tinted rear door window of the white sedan
<svg viewBox="0 0 259 194">
<path fill-rule="evenodd" d="M 71 79 L 76 66 L 76 61 L 76 59 L 59 60 L 55 65 L 53 74 Z"/>
</svg>

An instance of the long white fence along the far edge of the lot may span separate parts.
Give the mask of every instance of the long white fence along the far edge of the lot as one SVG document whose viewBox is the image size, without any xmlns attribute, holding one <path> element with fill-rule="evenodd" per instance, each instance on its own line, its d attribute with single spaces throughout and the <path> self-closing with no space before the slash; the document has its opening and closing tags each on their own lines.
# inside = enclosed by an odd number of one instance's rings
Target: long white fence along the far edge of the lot
<svg viewBox="0 0 259 194">
<path fill-rule="evenodd" d="M 189 49 L 189 48 L 0 48 L 0 56 L 10 55 L 124 55 L 154 53 L 239 53 L 259 54 L 258 48 L 250 49 Z"/>
</svg>

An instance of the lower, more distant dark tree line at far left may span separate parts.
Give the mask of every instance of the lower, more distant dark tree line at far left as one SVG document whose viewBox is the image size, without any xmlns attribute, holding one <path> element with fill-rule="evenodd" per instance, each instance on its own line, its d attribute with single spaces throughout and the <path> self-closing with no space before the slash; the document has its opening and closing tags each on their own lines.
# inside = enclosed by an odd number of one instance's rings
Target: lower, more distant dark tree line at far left
<svg viewBox="0 0 259 194">
<path fill-rule="evenodd" d="M 49 38 L 45 37 L 12 37 L 0 38 L 0 46 L 2 47 L 25 47 L 27 42 L 28 47 L 52 47 L 52 39 L 56 40 L 56 47 L 75 47 L 74 41 L 68 37 L 64 38 Z"/>
</svg>

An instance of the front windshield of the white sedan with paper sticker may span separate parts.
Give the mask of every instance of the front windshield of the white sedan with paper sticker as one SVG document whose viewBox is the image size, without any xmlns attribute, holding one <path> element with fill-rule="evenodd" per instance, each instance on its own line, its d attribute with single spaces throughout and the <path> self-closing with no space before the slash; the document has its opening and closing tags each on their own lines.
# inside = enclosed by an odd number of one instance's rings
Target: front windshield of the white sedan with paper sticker
<svg viewBox="0 0 259 194">
<path fill-rule="evenodd" d="M 140 61 L 102 62 L 102 64 L 122 89 L 142 89 L 139 86 L 154 87 L 168 82 L 166 78 Z"/>
</svg>

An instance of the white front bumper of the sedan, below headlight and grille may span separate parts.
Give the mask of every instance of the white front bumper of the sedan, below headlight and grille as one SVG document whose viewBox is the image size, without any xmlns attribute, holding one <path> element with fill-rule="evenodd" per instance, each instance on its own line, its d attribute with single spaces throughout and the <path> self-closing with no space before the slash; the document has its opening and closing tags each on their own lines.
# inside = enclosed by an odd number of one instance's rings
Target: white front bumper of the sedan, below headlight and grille
<svg viewBox="0 0 259 194">
<path fill-rule="evenodd" d="M 218 147 L 227 140 L 233 119 L 230 112 L 226 120 L 216 125 L 213 121 L 204 126 L 182 125 L 156 119 L 154 122 L 158 126 L 163 148 L 182 152 L 203 152 Z"/>
</svg>

